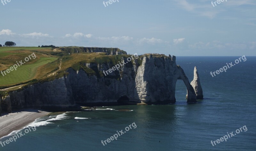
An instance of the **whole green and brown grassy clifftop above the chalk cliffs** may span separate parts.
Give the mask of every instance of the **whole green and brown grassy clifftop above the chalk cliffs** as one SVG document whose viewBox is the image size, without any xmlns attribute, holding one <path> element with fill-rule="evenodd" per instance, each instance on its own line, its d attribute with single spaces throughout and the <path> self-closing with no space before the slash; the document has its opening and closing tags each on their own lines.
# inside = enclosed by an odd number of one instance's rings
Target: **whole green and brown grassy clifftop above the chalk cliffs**
<svg viewBox="0 0 256 151">
<path fill-rule="evenodd" d="M 96 69 L 88 68 L 86 63 L 116 65 L 122 57 L 130 57 L 124 50 L 118 48 L 97 47 L 0 47 L 0 72 L 10 69 L 14 64 L 35 53 L 26 64 L 18 67 L 7 75 L 0 74 L 0 89 L 16 90 L 20 87 L 37 82 L 51 81 L 67 75 L 68 68 L 78 71 L 83 69 L 89 75 L 103 76 Z M 118 54 L 118 55 L 116 55 Z M 146 56 L 150 54 L 145 54 Z M 153 54 L 164 57 L 164 55 Z M 165 56 L 167 57 L 167 56 Z M 138 63 L 141 64 L 139 59 Z M 132 61 L 132 63 L 134 63 Z M 11 87 L 11 88 L 10 88 Z M 1 91 L 0 91 L 1 92 Z"/>
</svg>

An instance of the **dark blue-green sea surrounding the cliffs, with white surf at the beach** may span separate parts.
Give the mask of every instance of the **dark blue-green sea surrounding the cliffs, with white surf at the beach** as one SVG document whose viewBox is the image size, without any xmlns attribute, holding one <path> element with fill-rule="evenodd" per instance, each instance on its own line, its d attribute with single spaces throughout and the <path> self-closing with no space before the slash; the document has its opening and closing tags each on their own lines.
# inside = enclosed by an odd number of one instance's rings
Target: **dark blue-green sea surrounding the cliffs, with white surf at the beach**
<svg viewBox="0 0 256 151">
<path fill-rule="evenodd" d="M 189 81 L 197 67 L 204 94 L 197 103 L 186 102 L 178 80 L 176 103 L 52 113 L 29 125 L 35 131 L 2 138 L 26 133 L 0 151 L 255 151 L 256 57 L 210 74 L 239 57 L 176 57 Z"/>
</svg>

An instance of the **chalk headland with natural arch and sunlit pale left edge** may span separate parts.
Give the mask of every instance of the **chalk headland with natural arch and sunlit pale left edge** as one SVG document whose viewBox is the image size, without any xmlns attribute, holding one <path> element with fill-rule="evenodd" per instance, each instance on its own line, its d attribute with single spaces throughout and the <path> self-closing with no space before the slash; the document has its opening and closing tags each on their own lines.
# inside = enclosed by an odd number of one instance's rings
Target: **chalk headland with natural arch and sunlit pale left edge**
<svg viewBox="0 0 256 151">
<path fill-rule="evenodd" d="M 176 57 L 144 56 L 136 75 L 136 89 L 139 99 L 147 104 L 175 102 L 175 87 L 178 79 L 188 89 L 188 102 L 196 102 L 193 87 L 183 69 L 176 65 Z"/>
</svg>

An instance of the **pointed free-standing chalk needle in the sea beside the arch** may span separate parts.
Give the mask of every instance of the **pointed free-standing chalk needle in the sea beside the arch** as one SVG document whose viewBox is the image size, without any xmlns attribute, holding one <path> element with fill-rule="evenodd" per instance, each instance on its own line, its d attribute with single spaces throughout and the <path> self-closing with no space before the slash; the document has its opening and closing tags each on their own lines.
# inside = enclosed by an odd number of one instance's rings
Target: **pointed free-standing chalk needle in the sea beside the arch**
<svg viewBox="0 0 256 151">
<path fill-rule="evenodd" d="M 193 79 L 193 81 L 191 81 L 190 84 L 195 90 L 196 99 L 198 99 L 198 100 L 203 99 L 203 97 L 204 97 L 203 90 L 202 90 L 202 87 L 201 87 L 201 84 L 200 84 L 199 75 L 198 75 L 196 67 L 194 69 L 194 79 Z M 188 96 L 188 94 L 187 94 L 187 96 Z"/>
</svg>

